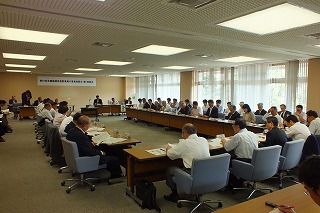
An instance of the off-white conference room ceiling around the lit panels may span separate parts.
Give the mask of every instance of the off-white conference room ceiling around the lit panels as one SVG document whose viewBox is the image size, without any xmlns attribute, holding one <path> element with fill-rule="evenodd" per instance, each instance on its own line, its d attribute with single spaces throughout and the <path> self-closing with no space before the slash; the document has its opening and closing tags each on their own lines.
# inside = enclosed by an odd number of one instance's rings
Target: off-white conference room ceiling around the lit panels
<svg viewBox="0 0 320 213">
<path fill-rule="evenodd" d="M 320 33 L 320 23 L 266 35 L 217 25 L 278 2 L 216 0 L 192 9 L 172 0 L 1 0 L 0 27 L 69 36 L 60 45 L 0 39 L 0 72 L 8 69 L 5 64 L 31 64 L 37 65 L 28 69 L 35 74 L 60 75 L 79 72 L 77 68 L 100 68 L 101 71 L 83 73 L 137 76 L 130 72 L 176 72 L 163 68 L 167 66 L 194 67 L 182 71 L 235 66 L 239 63 L 217 61 L 235 56 L 263 59 L 259 63 L 319 57 L 320 48 L 314 45 L 320 44 L 320 40 L 306 35 Z M 298 2 L 320 14 L 319 0 Z M 131 52 L 151 44 L 191 50 L 171 56 Z M 43 61 L 7 59 L 2 53 L 47 57 Z M 95 64 L 101 60 L 133 63 Z"/>
</svg>

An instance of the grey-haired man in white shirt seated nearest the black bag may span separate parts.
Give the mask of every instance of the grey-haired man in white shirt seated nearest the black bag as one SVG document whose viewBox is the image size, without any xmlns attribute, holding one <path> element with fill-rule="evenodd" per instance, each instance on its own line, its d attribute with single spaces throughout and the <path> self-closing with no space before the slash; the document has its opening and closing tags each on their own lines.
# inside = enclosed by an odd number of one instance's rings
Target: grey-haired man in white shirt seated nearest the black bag
<svg viewBox="0 0 320 213">
<path fill-rule="evenodd" d="M 187 123 L 182 128 L 182 138 L 179 143 L 174 146 L 167 146 L 167 156 L 171 160 L 182 158 L 184 168 L 183 170 L 190 173 L 193 158 L 205 158 L 210 156 L 208 141 L 205 138 L 197 136 L 196 127 Z M 166 184 L 171 188 L 171 194 L 165 195 L 164 199 L 176 203 L 179 200 L 176 184 L 172 181 L 175 171 L 180 168 L 172 166 L 167 169 Z"/>
</svg>

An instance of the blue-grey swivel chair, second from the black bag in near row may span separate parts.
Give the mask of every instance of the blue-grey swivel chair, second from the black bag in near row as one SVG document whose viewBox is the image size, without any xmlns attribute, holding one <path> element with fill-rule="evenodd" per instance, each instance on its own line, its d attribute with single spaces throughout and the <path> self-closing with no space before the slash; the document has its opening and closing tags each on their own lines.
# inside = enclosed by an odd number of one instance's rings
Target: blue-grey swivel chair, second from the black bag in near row
<svg viewBox="0 0 320 213">
<path fill-rule="evenodd" d="M 280 152 L 281 146 L 279 145 L 256 148 L 253 151 L 251 163 L 232 160 L 232 168 L 230 168 L 231 174 L 247 181 L 253 181 L 252 191 L 247 197 L 247 200 L 249 200 L 256 191 L 269 190 L 273 192 L 271 188 L 257 188 L 256 182 L 271 178 L 277 173 Z M 233 191 L 238 189 L 250 188 L 233 188 Z"/>
</svg>

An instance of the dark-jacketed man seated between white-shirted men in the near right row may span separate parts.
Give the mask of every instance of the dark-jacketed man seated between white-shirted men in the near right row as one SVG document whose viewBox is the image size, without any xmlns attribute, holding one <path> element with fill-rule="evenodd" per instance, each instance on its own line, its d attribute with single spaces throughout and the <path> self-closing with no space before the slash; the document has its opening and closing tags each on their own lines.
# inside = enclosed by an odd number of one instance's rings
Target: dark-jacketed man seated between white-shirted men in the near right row
<svg viewBox="0 0 320 213">
<path fill-rule="evenodd" d="M 284 131 L 278 128 L 278 119 L 273 116 L 267 117 L 266 127 L 269 130 L 266 135 L 266 141 L 259 143 L 259 147 L 274 145 L 283 147 L 288 141 L 288 137 Z"/>
</svg>

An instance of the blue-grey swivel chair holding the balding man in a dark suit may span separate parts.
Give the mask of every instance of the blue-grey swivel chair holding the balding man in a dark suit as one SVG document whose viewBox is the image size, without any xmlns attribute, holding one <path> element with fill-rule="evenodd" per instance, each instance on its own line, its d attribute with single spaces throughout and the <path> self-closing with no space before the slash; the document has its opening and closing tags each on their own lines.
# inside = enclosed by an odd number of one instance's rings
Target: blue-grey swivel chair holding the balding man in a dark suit
<svg viewBox="0 0 320 213">
<path fill-rule="evenodd" d="M 79 184 L 84 185 L 85 183 L 90 186 L 91 191 L 94 191 L 95 185 L 89 182 L 89 180 L 100 180 L 100 178 L 84 178 L 84 174 L 87 172 L 97 171 L 99 169 L 106 168 L 107 165 L 99 165 L 99 155 L 79 157 L 78 147 L 75 142 L 69 141 L 66 138 L 61 138 L 61 141 L 64 150 L 64 157 L 68 167 L 73 172 L 80 174 L 80 178 L 66 179 L 62 181 L 61 186 L 64 186 L 66 181 L 75 181 L 66 190 L 67 194 L 69 194 L 71 192 L 71 189 L 75 186 Z M 108 175 L 110 177 L 110 173 Z"/>
</svg>

